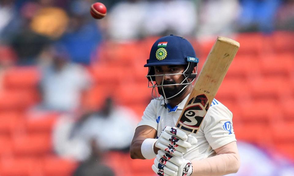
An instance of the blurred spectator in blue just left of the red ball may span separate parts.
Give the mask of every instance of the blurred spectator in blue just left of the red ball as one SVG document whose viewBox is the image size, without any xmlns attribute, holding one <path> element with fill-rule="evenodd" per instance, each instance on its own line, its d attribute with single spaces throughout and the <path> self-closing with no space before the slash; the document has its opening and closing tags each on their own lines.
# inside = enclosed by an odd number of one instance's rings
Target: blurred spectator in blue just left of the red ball
<svg viewBox="0 0 294 176">
<path fill-rule="evenodd" d="M 90 64 L 92 53 L 102 40 L 98 21 L 89 13 L 89 1 L 74 0 L 70 4 L 70 23 L 60 40 L 68 48 L 73 62 Z"/>
</svg>

